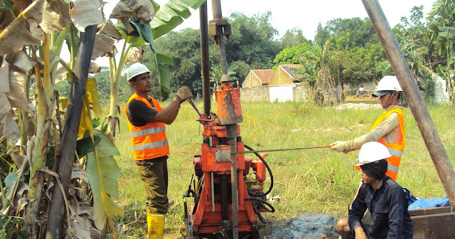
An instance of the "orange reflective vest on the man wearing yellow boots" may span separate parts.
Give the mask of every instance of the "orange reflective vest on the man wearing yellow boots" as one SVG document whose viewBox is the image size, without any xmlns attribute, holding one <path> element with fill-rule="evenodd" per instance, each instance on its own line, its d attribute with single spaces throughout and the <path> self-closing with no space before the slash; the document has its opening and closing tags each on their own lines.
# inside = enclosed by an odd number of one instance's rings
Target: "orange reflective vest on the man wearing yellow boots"
<svg viewBox="0 0 455 239">
<path fill-rule="evenodd" d="M 163 110 L 159 103 L 152 97 L 149 98 L 154 103 L 154 108 L 157 111 Z M 129 97 L 124 110 L 128 119 L 129 136 L 131 137 L 131 145 L 135 160 L 154 159 L 160 156 L 169 154 L 168 139 L 166 137 L 165 124 L 162 122 L 148 122 L 144 126 L 134 126 L 128 118 L 127 107 L 132 100 L 140 100 L 148 107 L 153 108 L 149 101 L 133 94 Z"/>
</svg>

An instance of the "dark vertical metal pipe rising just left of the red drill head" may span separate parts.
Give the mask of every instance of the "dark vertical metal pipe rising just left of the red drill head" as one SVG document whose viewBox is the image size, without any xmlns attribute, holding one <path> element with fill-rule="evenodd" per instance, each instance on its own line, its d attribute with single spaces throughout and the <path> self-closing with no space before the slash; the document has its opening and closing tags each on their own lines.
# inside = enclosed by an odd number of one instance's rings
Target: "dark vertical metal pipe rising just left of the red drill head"
<svg viewBox="0 0 455 239">
<path fill-rule="evenodd" d="M 202 71 L 202 98 L 204 114 L 210 115 L 210 58 L 208 56 L 207 1 L 199 7 L 200 70 Z"/>
</svg>

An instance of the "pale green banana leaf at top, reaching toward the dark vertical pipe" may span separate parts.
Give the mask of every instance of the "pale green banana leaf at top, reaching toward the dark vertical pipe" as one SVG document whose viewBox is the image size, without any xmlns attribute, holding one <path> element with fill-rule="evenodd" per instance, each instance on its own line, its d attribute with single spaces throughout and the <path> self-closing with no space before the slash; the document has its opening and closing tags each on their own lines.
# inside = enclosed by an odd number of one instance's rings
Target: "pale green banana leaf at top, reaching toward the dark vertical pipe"
<svg viewBox="0 0 455 239">
<path fill-rule="evenodd" d="M 183 18 L 191 16 L 188 7 L 198 9 L 205 0 L 170 0 L 159 11 L 156 12 L 154 19 L 150 22 L 151 31 L 154 38 L 159 38 L 172 31 L 173 28 L 183 22 Z M 186 10 L 185 10 L 186 9 Z"/>
</svg>

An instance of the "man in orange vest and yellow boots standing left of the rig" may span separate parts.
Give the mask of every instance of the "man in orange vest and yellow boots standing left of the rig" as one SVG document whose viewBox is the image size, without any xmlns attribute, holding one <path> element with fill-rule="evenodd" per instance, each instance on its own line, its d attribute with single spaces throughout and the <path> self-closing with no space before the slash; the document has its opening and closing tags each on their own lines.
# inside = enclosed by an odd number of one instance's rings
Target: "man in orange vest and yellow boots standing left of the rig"
<svg viewBox="0 0 455 239">
<path fill-rule="evenodd" d="M 141 63 L 127 69 L 127 81 L 134 94 L 125 105 L 134 161 L 147 197 L 148 238 L 164 238 L 164 220 L 168 211 L 169 154 L 165 124 L 171 124 L 178 115 L 180 104 L 193 97 L 188 87 L 181 87 L 171 103 L 161 108 L 148 95 L 151 91 L 150 70 Z"/>
</svg>

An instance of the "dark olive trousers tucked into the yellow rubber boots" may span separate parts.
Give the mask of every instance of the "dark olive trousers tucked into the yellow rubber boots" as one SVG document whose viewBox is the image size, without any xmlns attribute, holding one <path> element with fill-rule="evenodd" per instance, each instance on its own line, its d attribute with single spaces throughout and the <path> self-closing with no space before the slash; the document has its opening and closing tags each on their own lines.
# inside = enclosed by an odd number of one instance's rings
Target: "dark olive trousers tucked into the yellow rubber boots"
<svg viewBox="0 0 455 239">
<path fill-rule="evenodd" d="M 168 166 L 166 159 L 153 159 L 147 164 L 137 164 L 147 197 L 149 213 L 166 214 L 168 211 Z"/>
</svg>

